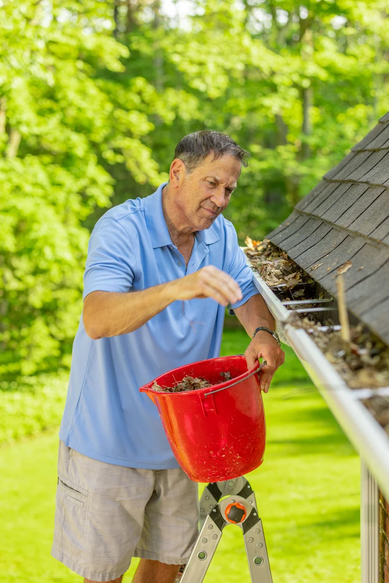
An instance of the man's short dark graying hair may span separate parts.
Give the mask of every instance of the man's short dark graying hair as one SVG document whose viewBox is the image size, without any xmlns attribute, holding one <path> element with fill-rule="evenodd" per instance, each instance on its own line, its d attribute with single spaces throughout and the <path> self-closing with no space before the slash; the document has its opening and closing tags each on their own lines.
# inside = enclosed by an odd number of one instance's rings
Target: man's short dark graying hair
<svg viewBox="0 0 389 583">
<path fill-rule="evenodd" d="M 215 132 L 212 129 L 202 129 L 193 134 L 188 134 L 178 142 L 174 158 L 179 158 L 185 164 L 188 173 L 192 172 L 208 154 L 213 154 L 217 160 L 224 154 L 229 154 L 240 161 L 241 166 L 246 167 L 246 158 L 250 153 L 240 147 L 230 136 Z"/>
</svg>

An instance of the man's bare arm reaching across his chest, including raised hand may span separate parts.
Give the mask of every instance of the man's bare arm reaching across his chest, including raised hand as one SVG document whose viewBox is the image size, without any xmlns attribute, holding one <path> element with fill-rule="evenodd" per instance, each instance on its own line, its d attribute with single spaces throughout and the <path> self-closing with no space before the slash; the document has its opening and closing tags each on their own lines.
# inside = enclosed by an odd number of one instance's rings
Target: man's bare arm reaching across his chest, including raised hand
<svg viewBox="0 0 389 583">
<path fill-rule="evenodd" d="M 142 291 L 92 291 L 84 300 L 83 322 L 90 338 L 109 338 L 140 328 L 173 301 L 205 297 L 226 306 L 242 296 L 232 277 L 208 265 L 184 278 Z"/>
</svg>

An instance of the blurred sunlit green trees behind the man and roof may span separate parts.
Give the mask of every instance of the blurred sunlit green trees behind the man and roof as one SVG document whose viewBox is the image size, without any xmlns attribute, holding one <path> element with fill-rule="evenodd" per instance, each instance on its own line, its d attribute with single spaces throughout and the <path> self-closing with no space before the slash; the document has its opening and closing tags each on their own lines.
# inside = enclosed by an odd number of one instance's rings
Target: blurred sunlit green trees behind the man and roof
<svg viewBox="0 0 389 583">
<path fill-rule="evenodd" d="M 89 231 L 216 129 L 250 150 L 226 210 L 281 222 L 389 110 L 387 0 L 3 0 L 0 375 L 67 368 Z"/>
</svg>

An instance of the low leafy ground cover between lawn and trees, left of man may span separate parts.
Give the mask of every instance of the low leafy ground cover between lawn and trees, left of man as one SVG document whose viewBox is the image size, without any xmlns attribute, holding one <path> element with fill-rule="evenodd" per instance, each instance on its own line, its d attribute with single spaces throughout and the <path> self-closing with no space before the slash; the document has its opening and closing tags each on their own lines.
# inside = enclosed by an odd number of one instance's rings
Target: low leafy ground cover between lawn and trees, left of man
<svg viewBox="0 0 389 583">
<path fill-rule="evenodd" d="M 0 445 L 58 427 L 68 374 L 42 374 L 0 383 Z"/>
</svg>

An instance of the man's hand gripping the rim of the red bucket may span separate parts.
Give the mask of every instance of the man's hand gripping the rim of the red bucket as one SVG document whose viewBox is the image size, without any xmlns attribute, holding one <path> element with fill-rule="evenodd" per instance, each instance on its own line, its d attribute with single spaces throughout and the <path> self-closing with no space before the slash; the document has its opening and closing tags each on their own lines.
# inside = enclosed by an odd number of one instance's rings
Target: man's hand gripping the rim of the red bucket
<svg viewBox="0 0 389 583">
<path fill-rule="evenodd" d="M 267 393 L 275 371 L 285 360 L 285 353 L 269 332 L 261 330 L 255 334 L 247 346 L 244 356 L 246 356 L 248 370 L 254 368 L 255 361 L 260 358 L 267 361 L 260 373 L 261 389 Z"/>
</svg>

